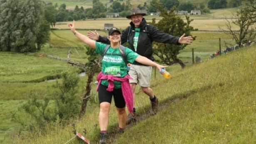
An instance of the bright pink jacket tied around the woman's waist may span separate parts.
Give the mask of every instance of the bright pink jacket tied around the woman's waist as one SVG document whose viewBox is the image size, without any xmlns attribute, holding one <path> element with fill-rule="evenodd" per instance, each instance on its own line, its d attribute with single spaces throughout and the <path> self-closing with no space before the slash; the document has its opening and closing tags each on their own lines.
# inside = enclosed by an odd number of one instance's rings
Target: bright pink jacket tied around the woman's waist
<svg viewBox="0 0 256 144">
<path fill-rule="evenodd" d="M 98 86 L 97 86 L 97 92 L 99 89 L 99 84 L 101 83 L 102 79 L 107 79 L 107 82 L 109 82 L 109 85 L 107 87 L 107 91 L 112 92 L 114 90 L 114 81 L 121 82 L 121 88 L 122 93 L 124 97 L 124 101 L 127 105 L 127 108 L 129 112 L 132 114 L 133 110 L 133 97 L 132 97 L 132 88 L 130 87 L 129 79 L 132 79 L 128 74 L 123 77 L 113 77 L 112 74 L 104 75 L 102 72 L 100 72 L 97 76 Z"/>
</svg>

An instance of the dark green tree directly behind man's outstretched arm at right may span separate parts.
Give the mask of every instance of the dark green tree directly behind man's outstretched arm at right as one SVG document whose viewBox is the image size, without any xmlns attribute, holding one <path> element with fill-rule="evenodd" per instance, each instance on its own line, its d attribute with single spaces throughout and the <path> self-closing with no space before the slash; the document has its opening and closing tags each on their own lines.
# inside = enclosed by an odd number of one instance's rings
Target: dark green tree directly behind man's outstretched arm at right
<svg viewBox="0 0 256 144">
<path fill-rule="evenodd" d="M 181 36 L 183 34 L 186 34 L 186 36 L 191 35 L 190 32 L 194 30 L 194 28 L 190 26 L 190 23 L 193 20 L 189 20 L 188 16 L 185 16 L 186 22 L 184 22 L 184 20 L 175 13 L 175 6 L 171 8 L 169 13 L 160 4 L 155 5 L 155 7 L 157 7 L 157 9 L 160 11 L 160 16 L 163 18 L 159 20 L 157 24 L 154 22 L 152 24 L 156 25 L 160 31 L 169 33 L 174 36 Z M 186 66 L 177 57 L 177 55 L 179 55 L 179 51 L 183 50 L 186 45 L 170 45 L 157 42 L 154 42 L 153 45 L 154 55 L 157 55 L 157 57 L 160 58 L 160 60 L 156 59 L 157 62 L 164 63 L 165 65 L 179 63 L 182 68 Z"/>
</svg>

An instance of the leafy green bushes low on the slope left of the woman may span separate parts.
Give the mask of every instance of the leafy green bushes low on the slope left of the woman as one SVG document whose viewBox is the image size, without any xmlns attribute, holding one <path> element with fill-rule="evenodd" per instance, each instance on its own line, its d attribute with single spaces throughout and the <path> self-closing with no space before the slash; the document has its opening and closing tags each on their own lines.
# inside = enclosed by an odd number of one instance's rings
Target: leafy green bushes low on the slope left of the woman
<svg viewBox="0 0 256 144">
<path fill-rule="evenodd" d="M 68 124 L 70 119 L 78 116 L 79 105 L 81 104 L 80 97 L 78 96 L 78 82 L 79 76 L 73 72 L 62 72 L 62 81 L 58 80 L 53 87 L 58 90 L 49 92 L 49 94 L 41 95 L 35 91 L 29 93 L 30 99 L 27 100 L 19 108 L 29 114 L 32 118 L 29 122 L 24 122 L 16 114 L 12 114 L 12 118 L 19 122 L 24 130 L 29 132 L 41 131 L 45 132 L 47 124 L 60 123 L 62 125 Z M 39 97 L 44 97 L 39 99 Z M 50 100 L 53 99 L 55 106 L 52 107 Z"/>
</svg>

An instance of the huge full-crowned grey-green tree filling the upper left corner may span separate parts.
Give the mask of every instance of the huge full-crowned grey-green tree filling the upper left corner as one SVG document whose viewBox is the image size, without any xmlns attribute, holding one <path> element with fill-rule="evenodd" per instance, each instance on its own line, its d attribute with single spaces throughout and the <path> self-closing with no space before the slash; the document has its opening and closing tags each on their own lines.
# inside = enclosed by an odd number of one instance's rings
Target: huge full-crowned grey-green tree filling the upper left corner
<svg viewBox="0 0 256 144">
<path fill-rule="evenodd" d="M 42 1 L 0 0 L 0 9 L 0 51 L 39 51 L 45 44 L 37 39 L 40 25 L 44 23 Z"/>
</svg>

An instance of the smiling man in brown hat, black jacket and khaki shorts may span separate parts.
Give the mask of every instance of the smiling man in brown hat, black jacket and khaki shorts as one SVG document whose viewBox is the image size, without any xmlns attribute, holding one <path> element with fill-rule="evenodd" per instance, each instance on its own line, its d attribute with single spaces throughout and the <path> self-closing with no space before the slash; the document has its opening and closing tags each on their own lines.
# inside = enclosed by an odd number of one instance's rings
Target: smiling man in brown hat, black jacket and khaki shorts
<svg viewBox="0 0 256 144">
<path fill-rule="evenodd" d="M 181 37 L 174 37 L 167 33 L 159 31 L 154 25 L 148 25 L 144 19 L 145 13 L 141 12 L 139 8 L 133 8 L 131 14 L 127 16 L 131 19 L 130 26 L 123 30 L 121 36 L 121 44 L 128 42 L 129 48 L 139 55 L 147 57 L 149 60 L 154 60 L 152 42 L 162 42 L 169 44 L 191 44 L 193 42 L 192 37 L 185 37 L 185 34 Z M 101 37 L 96 31 L 89 31 L 88 37 L 97 40 L 98 42 L 109 43 L 106 37 Z M 154 95 L 153 90 L 149 87 L 149 82 L 151 78 L 152 67 L 145 66 L 139 62 L 134 62 L 130 66 L 129 75 L 133 78 L 130 80 L 130 86 L 132 87 L 134 106 L 135 106 L 135 88 L 136 84 L 141 86 L 142 91 L 149 96 L 151 101 L 152 109 L 150 114 L 154 115 L 157 113 L 158 109 L 158 98 Z M 128 115 L 127 124 L 132 121 L 136 121 L 136 109 L 133 108 L 133 114 Z"/>
</svg>

